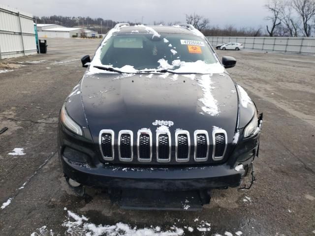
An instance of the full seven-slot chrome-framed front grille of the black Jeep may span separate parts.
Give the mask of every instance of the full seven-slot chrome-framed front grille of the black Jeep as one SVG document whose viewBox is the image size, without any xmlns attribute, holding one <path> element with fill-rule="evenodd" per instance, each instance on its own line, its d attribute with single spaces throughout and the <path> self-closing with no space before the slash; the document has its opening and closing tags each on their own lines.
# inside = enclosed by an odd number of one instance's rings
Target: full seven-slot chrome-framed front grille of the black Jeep
<svg viewBox="0 0 315 236">
<path fill-rule="evenodd" d="M 150 129 L 140 129 L 136 137 L 136 158 L 133 158 L 135 148 L 133 146 L 133 132 L 121 130 L 118 133 L 117 148 L 114 149 L 115 135 L 110 129 L 103 129 L 99 133 L 99 148 L 102 157 L 106 161 L 114 160 L 114 152 L 118 150 L 118 159 L 122 162 L 152 162 L 153 138 Z M 205 162 L 212 154 L 212 160 L 222 160 L 227 147 L 227 135 L 223 129 L 214 129 L 212 142 L 206 130 L 196 130 L 193 133 L 193 143 L 190 144 L 190 134 L 187 130 L 176 130 L 175 132 L 175 159 L 172 159 L 172 137 L 168 130 L 157 130 L 156 132 L 155 162 L 189 162 L 190 155 L 193 161 Z M 211 145 L 210 145 L 211 143 Z M 190 147 L 193 145 L 193 153 Z M 115 151 L 114 151 L 115 150 Z M 174 151 L 174 150 L 173 150 Z M 173 152 L 174 153 L 174 152 Z M 210 158 L 211 158 L 210 154 Z"/>
</svg>

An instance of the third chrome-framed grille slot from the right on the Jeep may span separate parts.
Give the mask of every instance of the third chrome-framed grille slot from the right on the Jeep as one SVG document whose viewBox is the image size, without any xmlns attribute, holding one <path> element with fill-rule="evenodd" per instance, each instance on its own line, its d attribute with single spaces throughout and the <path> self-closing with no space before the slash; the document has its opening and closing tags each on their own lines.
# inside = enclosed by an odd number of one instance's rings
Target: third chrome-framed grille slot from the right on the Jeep
<svg viewBox="0 0 315 236">
<path fill-rule="evenodd" d="M 187 137 L 187 140 L 185 140 L 185 136 Z M 187 148 L 186 148 L 186 143 L 187 143 Z M 189 132 L 187 130 L 176 130 L 175 131 L 175 160 L 177 162 L 188 162 L 189 157 L 190 157 Z"/>
</svg>

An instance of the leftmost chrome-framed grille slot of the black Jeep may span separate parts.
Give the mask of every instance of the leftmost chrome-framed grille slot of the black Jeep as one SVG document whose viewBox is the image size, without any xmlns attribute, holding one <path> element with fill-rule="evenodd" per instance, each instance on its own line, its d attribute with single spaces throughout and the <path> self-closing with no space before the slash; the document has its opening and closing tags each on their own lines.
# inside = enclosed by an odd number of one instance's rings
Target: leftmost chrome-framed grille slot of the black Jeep
<svg viewBox="0 0 315 236">
<path fill-rule="evenodd" d="M 106 161 L 114 160 L 114 140 L 115 134 L 111 129 L 102 129 L 99 132 L 99 149 L 101 151 L 102 157 Z"/>
</svg>

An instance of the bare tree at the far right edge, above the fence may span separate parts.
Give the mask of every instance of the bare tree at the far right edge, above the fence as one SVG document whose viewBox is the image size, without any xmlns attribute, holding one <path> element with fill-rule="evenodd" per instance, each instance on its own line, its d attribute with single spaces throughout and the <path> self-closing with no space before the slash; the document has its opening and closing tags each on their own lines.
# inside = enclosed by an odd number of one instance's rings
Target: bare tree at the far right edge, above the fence
<svg viewBox="0 0 315 236">
<path fill-rule="evenodd" d="M 304 35 L 311 36 L 312 19 L 315 17 L 315 0 L 293 0 L 293 8 L 302 18 Z"/>
</svg>

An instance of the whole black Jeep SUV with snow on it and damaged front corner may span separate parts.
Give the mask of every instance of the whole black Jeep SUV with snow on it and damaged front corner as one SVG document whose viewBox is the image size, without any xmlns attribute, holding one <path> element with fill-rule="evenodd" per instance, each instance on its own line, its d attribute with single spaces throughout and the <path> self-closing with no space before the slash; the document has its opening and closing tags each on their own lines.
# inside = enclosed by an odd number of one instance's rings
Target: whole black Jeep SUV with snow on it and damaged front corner
<svg viewBox="0 0 315 236">
<path fill-rule="evenodd" d="M 63 104 L 58 130 L 74 189 L 108 189 L 129 208 L 139 197 L 163 208 L 194 193 L 202 205 L 209 190 L 239 186 L 249 175 L 262 115 L 225 70 L 236 60 L 220 61 L 200 31 L 121 23 L 92 61 L 81 60 L 88 68 Z"/>
</svg>

